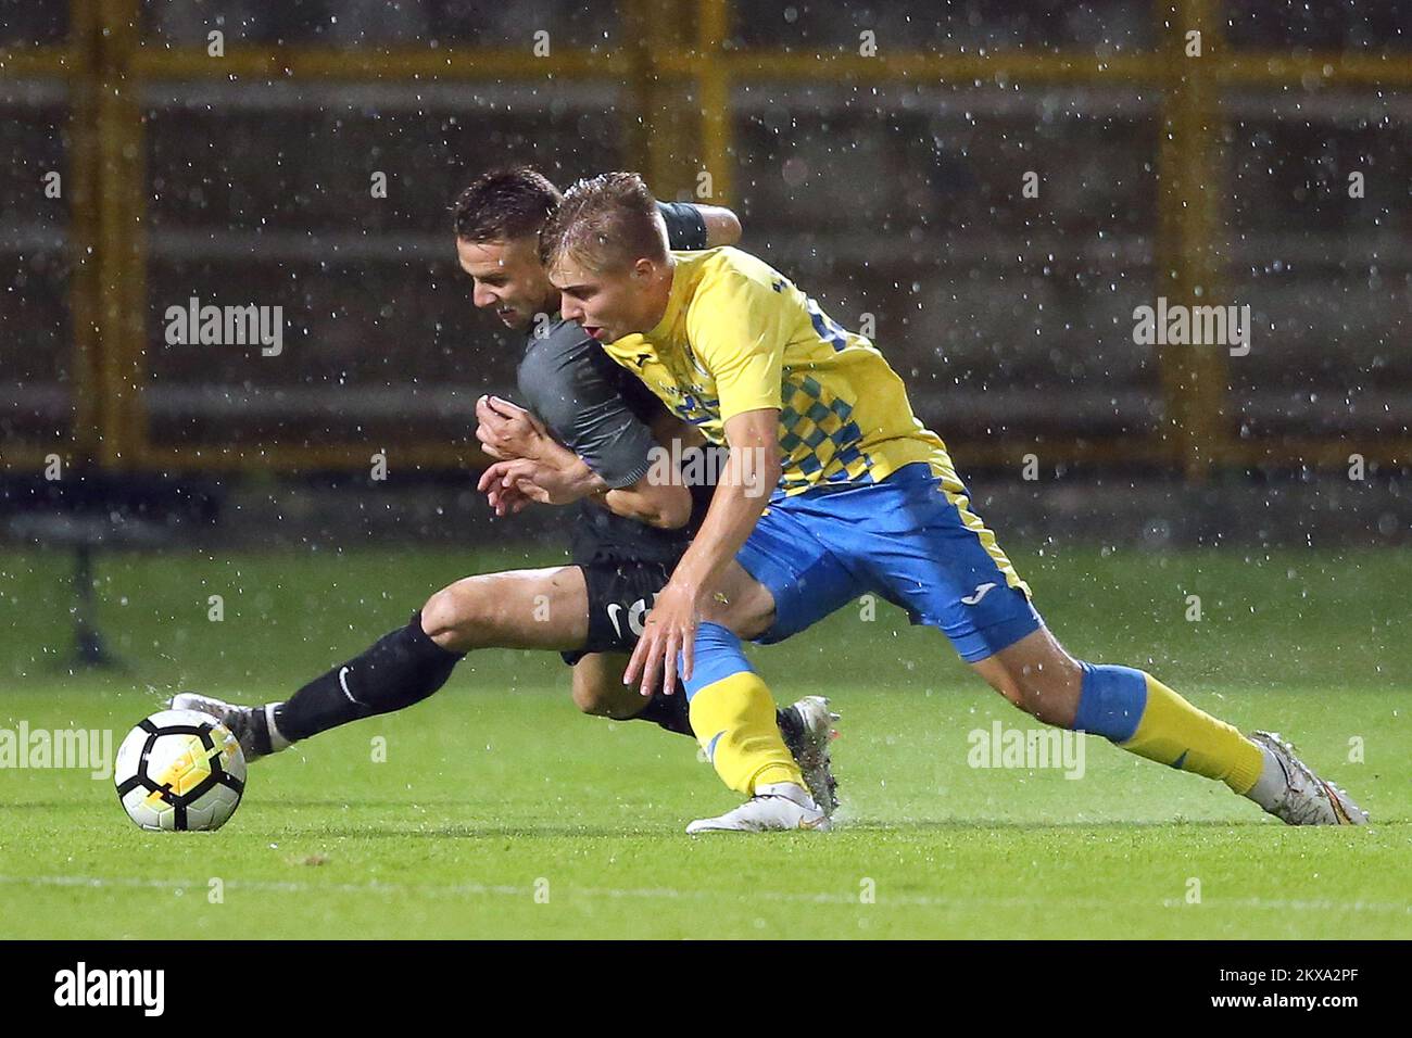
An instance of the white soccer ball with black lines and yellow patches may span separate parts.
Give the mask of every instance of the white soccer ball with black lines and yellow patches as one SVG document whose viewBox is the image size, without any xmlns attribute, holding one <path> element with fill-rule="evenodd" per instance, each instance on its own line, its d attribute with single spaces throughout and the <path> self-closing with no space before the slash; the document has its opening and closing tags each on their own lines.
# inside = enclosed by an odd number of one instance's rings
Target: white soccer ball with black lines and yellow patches
<svg viewBox="0 0 1412 1038">
<path fill-rule="evenodd" d="M 196 710 L 162 710 L 117 747 L 117 799 L 143 829 L 219 829 L 246 789 L 246 756 L 225 724 Z"/>
</svg>

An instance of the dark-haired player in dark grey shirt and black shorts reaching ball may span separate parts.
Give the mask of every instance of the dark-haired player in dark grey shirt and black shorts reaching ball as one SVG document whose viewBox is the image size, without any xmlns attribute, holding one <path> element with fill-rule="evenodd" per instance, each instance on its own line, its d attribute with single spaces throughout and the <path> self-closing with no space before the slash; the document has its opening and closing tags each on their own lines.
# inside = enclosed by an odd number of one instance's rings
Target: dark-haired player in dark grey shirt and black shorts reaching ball
<svg viewBox="0 0 1412 1038">
<path fill-rule="evenodd" d="M 456 256 L 473 281 L 472 301 L 525 332 L 518 407 L 496 397 L 476 404 L 486 453 L 501 459 L 480 482 L 496 513 L 531 499 L 517 480 L 527 463 L 537 493 L 578 500 L 570 563 L 467 576 L 432 595 L 411 621 L 364 652 L 264 706 L 226 703 L 195 692 L 176 709 L 222 719 L 249 758 L 268 756 L 339 724 L 400 710 L 439 689 L 456 662 L 477 648 L 556 650 L 573 668 L 573 700 L 585 713 L 651 720 L 692 734 L 686 696 L 644 699 L 623 685 L 642 617 L 686 551 L 713 487 L 650 479 L 654 448 L 676 456 L 707 449 L 641 383 L 613 363 L 583 329 L 558 314 L 559 294 L 539 263 L 539 229 L 559 205 L 558 189 L 532 169 L 479 177 L 452 213 Z M 734 213 L 685 202 L 659 206 L 672 249 L 730 244 Z M 713 470 L 710 466 L 703 469 Z M 659 470 L 659 469 L 658 469 Z M 750 603 L 741 603 L 748 610 Z M 743 623 L 748 617 L 738 617 Z M 827 743 L 827 700 L 806 696 L 778 710 L 815 801 L 836 804 Z"/>
</svg>

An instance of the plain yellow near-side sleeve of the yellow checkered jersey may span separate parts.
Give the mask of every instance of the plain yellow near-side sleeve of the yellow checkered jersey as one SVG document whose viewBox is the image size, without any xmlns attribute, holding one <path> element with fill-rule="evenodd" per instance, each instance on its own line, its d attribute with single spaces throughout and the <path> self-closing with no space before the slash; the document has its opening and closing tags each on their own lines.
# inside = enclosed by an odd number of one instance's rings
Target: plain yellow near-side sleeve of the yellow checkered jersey
<svg viewBox="0 0 1412 1038">
<path fill-rule="evenodd" d="M 788 305 L 744 274 L 723 271 L 703 281 L 686 314 L 686 338 L 716 378 L 720 419 L 782 407 Z"/>
</svg>

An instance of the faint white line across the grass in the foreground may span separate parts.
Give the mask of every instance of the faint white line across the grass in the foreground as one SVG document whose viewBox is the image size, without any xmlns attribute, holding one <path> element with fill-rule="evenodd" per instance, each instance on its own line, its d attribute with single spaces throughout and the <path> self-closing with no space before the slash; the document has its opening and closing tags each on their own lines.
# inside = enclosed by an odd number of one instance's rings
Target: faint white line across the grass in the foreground
<svg viewBox="0 0 1412 1038">
<path fill-rule="evenodd" d="M 0 876 L 0 885 L 17 887 L 89 887 L 89 888 L 130 888 L 130 890 L 199 890 L 208 885 L 208 880 L 141 880 L 136 877 L 102 877 L 102 876 Z M 456 884 L 408 884 L 408 883 L 301 883 L 295 880 L 227 880 L 225 890 L 250 890 L 280 894 L 401 894 L 429 895 L 429 897 L 466 897 L 466 895 L 500 895 L 532 898 L 534 887 L 511 887 L 503 884 L 456 883 Z M 702 901 L 702 900 L 737 900 L 751 901 L 748 895 L 713 891 L 713 890 L 675 890 L 671 887 L 650 888 L 617 888 L 617 887 L 568 887 L 568 891 L 580 897 L 623 898 L 623 900 L 674 900 L 674 901 Z M 808 894 L 801 891 L 761 891 L 770 901 L 791 901 L 798 904 L 861 904 L 857 895 L 819 893 Z M 1161 901 L 1142 901 L 1127 898 L 1065 898 L 1065 897 L 932 897 L 926 894 L 881 894 L 877 904 L 908 905 L 923 908 L 967 908 L 987 905 L 991 908 L 1052 908 L 1055 905 L 1111 909 L 1115 905 L 1132 908 L 1161 907 L 1161 908 L 1189 908 L 1182 898 L 1163 898 Z M 1377 912 L 1384 915 L 1412 915 L 1412 904 L 1395 904 L 1380 901 L 1300 901 L 1282 898 L 1207 898 L 1202 902 L 1204 908 L 1255 908 L 1261 911 L 1324 911 L 1324 912 Z"/>
</svg>

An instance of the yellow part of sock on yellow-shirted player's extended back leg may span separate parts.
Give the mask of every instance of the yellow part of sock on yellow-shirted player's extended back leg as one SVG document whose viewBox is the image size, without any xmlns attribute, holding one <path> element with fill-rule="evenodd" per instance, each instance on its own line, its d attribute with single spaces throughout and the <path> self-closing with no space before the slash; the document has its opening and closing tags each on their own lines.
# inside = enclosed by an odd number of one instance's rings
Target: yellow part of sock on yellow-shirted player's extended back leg
<svg viewBox="0 0 1412 1038">
<path fill-rule="evenodd" d="M 1207 778 L 1219 778 L 1238 794 L 1250 792 L 1265 758 L 1238 729 L 1196 709 L 1151 674 L 1147 709 L 1124 750 Z"/>
</svg>

